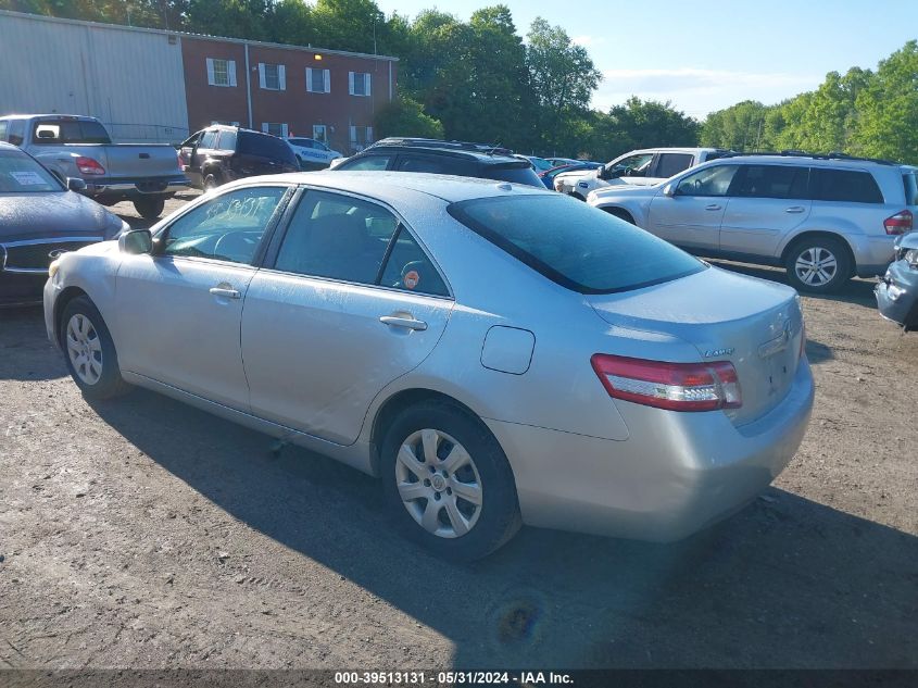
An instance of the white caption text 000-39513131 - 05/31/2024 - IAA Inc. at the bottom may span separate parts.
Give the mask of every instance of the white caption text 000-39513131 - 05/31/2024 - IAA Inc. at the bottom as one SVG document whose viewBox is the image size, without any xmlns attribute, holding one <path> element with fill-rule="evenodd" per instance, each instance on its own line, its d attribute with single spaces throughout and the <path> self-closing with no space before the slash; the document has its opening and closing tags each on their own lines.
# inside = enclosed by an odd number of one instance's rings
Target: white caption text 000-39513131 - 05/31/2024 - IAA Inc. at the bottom
<svg viewBox="0 0 918 688">
<path fill-rule="evenodd" d="M 335 683 L 348 685 L 403 685 L 403 686 L 461 686 L 461 685 L 516 685 L 561 686 L 571 685 L 569 674 L 555 672 L 335 672 Z"/>
</svg>

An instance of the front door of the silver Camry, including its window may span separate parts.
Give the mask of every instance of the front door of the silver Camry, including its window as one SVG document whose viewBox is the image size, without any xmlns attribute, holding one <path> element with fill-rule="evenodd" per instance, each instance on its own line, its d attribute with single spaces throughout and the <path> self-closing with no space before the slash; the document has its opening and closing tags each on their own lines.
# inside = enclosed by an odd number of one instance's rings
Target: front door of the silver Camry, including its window
<svg viewBox="0 0 918 688">
<path fill-rule="evenodd" d="M 247 410 L 239 327 L 263 235 L 285 186 L 253 186 L 194 205 L 126 255 L 117 275 L 122 368 Z"/>
</svg>

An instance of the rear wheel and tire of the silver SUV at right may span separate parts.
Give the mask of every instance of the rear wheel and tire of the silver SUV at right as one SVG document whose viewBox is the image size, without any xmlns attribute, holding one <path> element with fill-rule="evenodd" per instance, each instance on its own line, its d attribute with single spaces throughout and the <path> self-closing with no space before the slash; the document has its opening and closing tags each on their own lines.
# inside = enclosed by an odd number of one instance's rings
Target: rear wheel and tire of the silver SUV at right
<svg viewBox="0 0 918 688">
<path fill-rule="evenodd" d="M 852 260 L 847 247 L 831 237 L 805 237 L 784 257 L 788 282 L 798 291 L 832 293 L 851 279 Z"/>
</svg>

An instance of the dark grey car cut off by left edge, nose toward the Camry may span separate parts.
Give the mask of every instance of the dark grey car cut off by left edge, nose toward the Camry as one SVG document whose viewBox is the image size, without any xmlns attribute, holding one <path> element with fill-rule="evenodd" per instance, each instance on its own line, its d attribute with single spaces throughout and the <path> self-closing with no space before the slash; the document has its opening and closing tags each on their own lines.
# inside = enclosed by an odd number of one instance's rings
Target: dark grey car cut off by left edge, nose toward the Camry
<svg viewBox="0 0 918 688">
<path fill-rule="evenodd" d="M 0 142 L 0 307 L 41 302 L 48 266 L 66 251 L 111 239 L 127 224 L 67 186 L 32 155 Z"/>
</svg>

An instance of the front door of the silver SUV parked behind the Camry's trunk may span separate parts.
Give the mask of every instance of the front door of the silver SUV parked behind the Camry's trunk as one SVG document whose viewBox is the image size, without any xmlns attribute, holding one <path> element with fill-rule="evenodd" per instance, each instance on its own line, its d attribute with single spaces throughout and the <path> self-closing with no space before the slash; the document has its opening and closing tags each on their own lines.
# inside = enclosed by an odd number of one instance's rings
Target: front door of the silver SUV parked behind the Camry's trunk
<svg viewBox="0 0 918 688">
<path fill-rule="evenodd" d="M 647 230 L 676 246 L 718 250 L 727 191 L 735 173 L 737 165 L 714 165 L 674 180 L 671 195 L 661 191 L 651 201 Z"/>
</svg>

